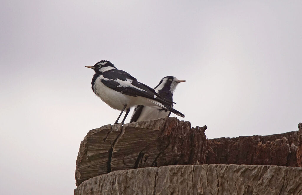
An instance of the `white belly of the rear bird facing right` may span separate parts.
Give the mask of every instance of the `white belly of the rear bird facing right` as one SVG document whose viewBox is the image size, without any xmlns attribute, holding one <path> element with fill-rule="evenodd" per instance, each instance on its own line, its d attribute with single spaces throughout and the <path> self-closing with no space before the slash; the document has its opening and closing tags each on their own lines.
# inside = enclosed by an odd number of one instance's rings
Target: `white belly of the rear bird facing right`
<svg viewBox="0 0 302 195">
<path fill-rule="evenodd" d="M 168 117 L 170 111 L 144 106 L 137 121 L 153 120 Z"/>
</svg>

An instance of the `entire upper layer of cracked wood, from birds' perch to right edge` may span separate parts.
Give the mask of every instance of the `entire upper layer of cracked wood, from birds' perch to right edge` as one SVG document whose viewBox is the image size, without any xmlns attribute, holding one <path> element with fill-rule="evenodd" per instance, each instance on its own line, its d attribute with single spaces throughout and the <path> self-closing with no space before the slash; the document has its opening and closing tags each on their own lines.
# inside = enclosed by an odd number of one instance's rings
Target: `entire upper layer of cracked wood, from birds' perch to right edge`
<svg viewBox="0 0 302 195">
<path fill-rule="evenodd" d="M 297 146 L 302 151 L 298 131 L 207 140 L 206 128 L 191 128 L 188 121 L 168 117 L 90 130 L 80 144 L 76 185 L 124 169 L 187 164 L 298 166 L 302 159 L 297 153 Z"/>
</svg>

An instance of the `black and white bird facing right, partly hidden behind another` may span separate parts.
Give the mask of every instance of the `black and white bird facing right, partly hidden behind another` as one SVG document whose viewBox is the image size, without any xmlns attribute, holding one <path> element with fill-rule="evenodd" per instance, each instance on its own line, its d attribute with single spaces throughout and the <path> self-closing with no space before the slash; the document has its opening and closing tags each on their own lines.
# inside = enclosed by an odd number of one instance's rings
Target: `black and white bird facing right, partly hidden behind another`
<svg viewBox="0 0 302 195">
<path fill-rule="evenodd" d="M 175 91 L 178 83 L 185 82 L 185 80 L 178 80 L 174 76 L 166 76 L 162 78 L 159 84 L 154 88 L 155 92 L 159 94 L 161 98 L 166 100 L 173 101 L 173 92 Z M 173 104 L 169 104 L 173 106 Z M 169 117 L 171 111 L 168 111 L 164 108 L 152 108 L 146 107 L 143 105 L 138 105 L 134 108 L 130 123 L 144 120 L 153 120 L 160 119 L 164 117 Z"/>
</svg>

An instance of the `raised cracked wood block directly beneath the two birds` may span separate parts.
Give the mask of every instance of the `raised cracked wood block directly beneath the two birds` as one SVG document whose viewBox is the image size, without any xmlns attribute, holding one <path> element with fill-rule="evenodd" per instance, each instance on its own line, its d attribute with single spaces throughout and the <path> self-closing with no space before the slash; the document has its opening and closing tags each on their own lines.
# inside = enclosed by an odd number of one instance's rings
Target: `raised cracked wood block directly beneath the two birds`
<svg viewBox="0 0 302 195">
<path fill-rule="evenodd" d="M 175 117 L 93 129 L 80 144 L 76 185 L 116 170 L 199 164 L 205 129 Z"/>
</svg>

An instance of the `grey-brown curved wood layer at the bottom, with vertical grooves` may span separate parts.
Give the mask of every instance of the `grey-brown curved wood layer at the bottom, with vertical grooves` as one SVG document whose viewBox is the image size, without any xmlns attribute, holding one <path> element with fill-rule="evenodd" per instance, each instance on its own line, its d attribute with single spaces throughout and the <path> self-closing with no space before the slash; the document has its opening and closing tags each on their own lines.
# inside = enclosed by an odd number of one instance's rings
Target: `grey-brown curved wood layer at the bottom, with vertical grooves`
<svg viewBox="0 0 302 195">
<path fill-rule="evenodd" d="M 114 171 L 84 181 L 76 195 L 301 194 L 302 168 L 268 165 L 171 165 Z"/>
</svg>

